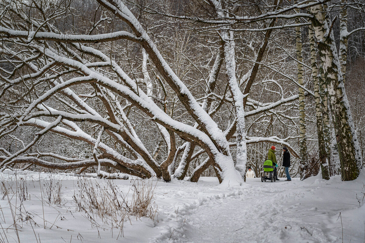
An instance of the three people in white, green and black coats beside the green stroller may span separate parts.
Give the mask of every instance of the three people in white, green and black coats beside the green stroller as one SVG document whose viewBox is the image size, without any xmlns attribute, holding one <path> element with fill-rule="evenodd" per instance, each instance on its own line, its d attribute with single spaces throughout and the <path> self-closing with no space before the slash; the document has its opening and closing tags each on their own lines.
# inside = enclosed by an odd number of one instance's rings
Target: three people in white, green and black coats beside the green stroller
<svg viewBox="0 0 365 243">
<path fill-rule="evenodd" d="M 277 160 L 276 160 L 276 148 L 275 146 L 272 146 L 269 149 L 268 152 L 268 160 L 271 160 L 273 162 L 273 166 L 274 166 L 274 177 L 276 178 L 277 181 L 279 181 L 279 179 L 277 178 Z M 287 180 L 285 181 L 291 181 L 291 177 L 289 175 L 289 167 L 290 167 L 290 153 L 288 151 L 287 147 L 283 147 L 283 167 L 285 167 L 285 174 L 287 175 Z M 251 170 L 251 167 L 248 168 L 248 171 L 246 172 L 246 178 L 253 178 L 255 177 L 254 172 Z"/>
</svg>

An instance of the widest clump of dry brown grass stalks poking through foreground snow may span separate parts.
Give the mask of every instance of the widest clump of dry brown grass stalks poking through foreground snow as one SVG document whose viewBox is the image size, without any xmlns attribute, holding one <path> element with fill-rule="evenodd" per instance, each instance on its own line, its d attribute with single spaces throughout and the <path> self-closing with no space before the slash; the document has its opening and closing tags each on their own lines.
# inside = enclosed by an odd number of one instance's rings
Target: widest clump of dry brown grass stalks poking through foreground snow
<svg viewBox="0 0 365 243">
<path fill-rule="evenodd" d="M 76 210 L 87 213 L 93 226 L 98 227 L 96 220 L 91 217 L 96 215 L 104 224 L 111 225 L 111 228 L 118 228 L 119 237 L 120 234 L 124 235 L 124 222 L 130 221 L 131 215 L 157 220 L 154 189 L 152 181 L 146 183 L 133 180 L 132 187 L 124 195 L 114 181 L 105 180 L 105 186 L 101 186 L 97 181 L 82 178 L 77 181 L 73 199 L 76 202 Z M 133 194 L 129 202 L 128 194 L 131 190 Z"/>
</svg>

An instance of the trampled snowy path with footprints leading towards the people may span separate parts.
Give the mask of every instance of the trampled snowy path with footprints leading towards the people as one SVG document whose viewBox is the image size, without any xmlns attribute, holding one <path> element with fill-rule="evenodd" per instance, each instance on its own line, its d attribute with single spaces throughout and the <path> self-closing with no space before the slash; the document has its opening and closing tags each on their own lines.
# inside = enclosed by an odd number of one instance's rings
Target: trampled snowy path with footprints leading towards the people
<svg viewBox="0 0 365 243">
<path fill-rule="evenodd" d="M 316 214 L 317 210 L 300 207 L 300 200 L 296 200 L 293 204 L 292 199 L 297 199 L 305 191 L 296 193 L 298 186 L 293 182 L 261 183 L 260 181 L 259 184 L 256 182 L 258 180 L 249 181 L 255 188 L 245 190 L 247 194 L 224 197 L 197 209 L 188 218 L 188 222 L 192 224 L 192 237 L 189 241 L 233 243 L 281 242 L 281 240 L 300 242 L 300 238 L 313 238 L 314 242 L 333 240 L 323 236 L 321 232 L 323 226 L 311 226 L 302 222 L 302 219 L 298 222 L 297 217 Z M 300 227 L 303 230 L 300 230 Z M 312 232 L 314 228 L 320 230 L 316 236 L 311 237 L 308 231 Z M 291 239 L 291 236 L 294 239 Z"/>
</svg>

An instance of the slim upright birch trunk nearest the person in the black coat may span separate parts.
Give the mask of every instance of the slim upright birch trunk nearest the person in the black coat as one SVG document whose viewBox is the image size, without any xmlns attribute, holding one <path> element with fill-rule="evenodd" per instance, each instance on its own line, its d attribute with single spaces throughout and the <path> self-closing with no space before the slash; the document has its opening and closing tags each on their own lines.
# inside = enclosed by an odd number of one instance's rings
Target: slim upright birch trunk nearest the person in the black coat
<svg viewBox="0 0 365 243">
<path fill-rule="evenodd" d="M 299 10 L 298 10 L 299 11 Z M 300 19 L 295 19 L 296 24 L 300 24 Z M 304 101 L 304 89 L 303 86 L 303 56 L 301 53 L 301 31 L 300 26 L 295 27 L 295 35 L 296 35 L 296 54 L 298 60 L 298 83 L 299 83 L 299 125 L 300 125 L 300 165 L 299 165 L 299 173 L 301 179 L 305 179 L 306 177 L 306 164 L 308 163 L 307 156 L 307 133 L 306 133 L 306 103 Z"/>
</svg>

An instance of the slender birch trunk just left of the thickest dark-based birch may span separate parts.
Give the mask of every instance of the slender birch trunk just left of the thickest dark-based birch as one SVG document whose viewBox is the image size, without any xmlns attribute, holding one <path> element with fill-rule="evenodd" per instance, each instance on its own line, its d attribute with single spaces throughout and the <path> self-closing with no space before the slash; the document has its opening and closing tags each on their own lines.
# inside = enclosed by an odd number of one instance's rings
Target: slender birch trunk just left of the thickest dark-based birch
<svg viewBox="0 0 365 243">
<path fill-rule="evenodd" d="M 323 110 L 322 110 L 322 102 L 319 94 L 319 79 L 318 79 L 318 68 L 317 68 L 317 54 L 315 49 L 315 39 L 313 33 L 313 27 L 308 26 L 309 31 L 309 42 L 311 48 L 311 64 L 312 64 L 312 77 L 314 82 L 314 99 L 316 102 L 316 118 L 317 118 L 317 133 L 318 133 L 318 152 L 319 152 L 319 161 L 322 169 L 322 178 L 325 180 L 330 179 L 330 173 L 328 169 L 328 160 L 327 160 L 327 151 L 326 144 L 324 141 L 324 132 L 323 132 Z"/>
</svg>

